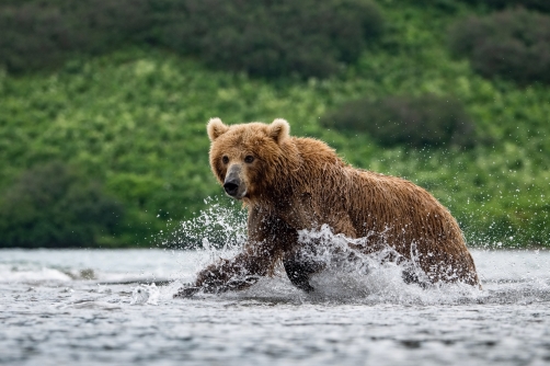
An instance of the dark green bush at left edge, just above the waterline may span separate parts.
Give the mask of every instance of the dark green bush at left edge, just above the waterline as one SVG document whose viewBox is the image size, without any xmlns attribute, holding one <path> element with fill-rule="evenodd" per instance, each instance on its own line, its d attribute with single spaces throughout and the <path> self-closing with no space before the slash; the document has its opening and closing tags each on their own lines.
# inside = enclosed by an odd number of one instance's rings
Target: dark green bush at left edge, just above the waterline
<svg viewBox="0 0 550 366">
<path fill-rule="evenodd" d="M 93 247 L 123 213 L 98 182 L 51 162 L 27 170 L 0 199 L 0 248 Z"/>
</svg>

